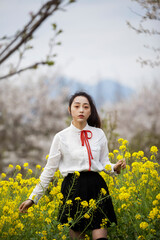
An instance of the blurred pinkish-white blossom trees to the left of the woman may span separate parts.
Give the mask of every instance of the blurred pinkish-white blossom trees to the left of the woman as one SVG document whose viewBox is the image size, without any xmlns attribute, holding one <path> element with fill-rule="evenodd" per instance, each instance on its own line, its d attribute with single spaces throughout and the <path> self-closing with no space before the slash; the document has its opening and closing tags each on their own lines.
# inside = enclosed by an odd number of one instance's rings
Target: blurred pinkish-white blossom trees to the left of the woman
<svg viewBox="0 0 160 240">
<path fill-rule="evenodd" d="M 0 87 L 0 172 L 8 164 L 29 162 L 34 169 L 43 164 L 52 139 L 66 127 L 67 92 L 52 96 L 53 78 L 46 76 L 30 84 L 1 82 Z"/>
</svg>

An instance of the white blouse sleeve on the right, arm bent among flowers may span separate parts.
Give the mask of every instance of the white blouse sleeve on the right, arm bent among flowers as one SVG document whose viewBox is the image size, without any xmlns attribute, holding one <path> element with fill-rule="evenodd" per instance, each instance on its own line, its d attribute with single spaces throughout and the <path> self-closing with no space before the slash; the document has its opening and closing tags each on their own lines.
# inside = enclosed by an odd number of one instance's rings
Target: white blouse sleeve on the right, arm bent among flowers
<svg viewBox="0 0 160 240">
<path fill-rule="evenodd" d="M 101 139 L 100 162 L 104 167 L 104 171 L 106 173 L 110 175 L 117 175 L 117 173 L 114 171 L 115 164 L 110 162 L 108 154 L 109 154 L 108 141 L 107 141 L 106 135 L 103 132 L 103 137 Z M 105 169 L 106 165 L 111 166 L 111 170 L 107 171 Z"/>
</svg>

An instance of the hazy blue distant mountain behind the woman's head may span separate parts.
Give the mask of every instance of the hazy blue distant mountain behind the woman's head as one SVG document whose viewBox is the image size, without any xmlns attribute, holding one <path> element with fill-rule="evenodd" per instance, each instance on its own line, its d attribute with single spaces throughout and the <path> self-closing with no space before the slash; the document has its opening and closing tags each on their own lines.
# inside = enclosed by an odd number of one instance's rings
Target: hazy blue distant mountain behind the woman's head
<svg viewBox="0 0 160 240">
<path fill-rule="evenodd" d="M 128 99 L 134 93 L 132 88 L 113 80 L 102 79 L 91 85 L 65 77 L 58 77 L 56 79 L 56 88 L 54 88 L 52 94 L 59 95 L 64 87 L 68 89 L 70 95 L 76 91 L 86 91 L 93 97 L 97 107 L 101 107 L 106 102 L 115 103 Z"/>
</svg>

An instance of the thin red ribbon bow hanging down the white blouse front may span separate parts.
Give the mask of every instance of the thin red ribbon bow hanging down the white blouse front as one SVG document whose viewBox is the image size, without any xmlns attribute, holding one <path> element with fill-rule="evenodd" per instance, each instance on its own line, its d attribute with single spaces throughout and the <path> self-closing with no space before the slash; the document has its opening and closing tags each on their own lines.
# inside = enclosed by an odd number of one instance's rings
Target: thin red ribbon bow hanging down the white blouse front
<svg viewBox="0 0 160 240">
<path fill-rule="evenodd" d="M 91 134 L 90 137 L 88 137 L 88 133 Z M 92 132 L 89 130 L 82 130 L 81 131 L 81 142 L 82 142 L 82 146 L 84 146 L 84 144 L 86 144 L 87 147 L 87 152 L 88 152 L 88 159 L 89 159 L 89 171 L 91 171 L 91 159 L 93 159 L 92 156 L 92 152 L 91 152 L 91 147 L 89 145 L 89 141 L 88 139 L 92 138 Z"/>
</svg>

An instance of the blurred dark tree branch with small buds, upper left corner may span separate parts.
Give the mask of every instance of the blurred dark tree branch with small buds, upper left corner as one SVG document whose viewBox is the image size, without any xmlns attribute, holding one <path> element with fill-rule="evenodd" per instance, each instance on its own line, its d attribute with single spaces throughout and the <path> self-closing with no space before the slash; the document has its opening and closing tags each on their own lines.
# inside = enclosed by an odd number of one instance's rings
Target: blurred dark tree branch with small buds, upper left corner
<svg viewBox="0 0 160 240">
<path fill-rule="evenodd" d="M 18 61 L 16 64 L 11 64 L 10 69 L 4 75 L 0 76 L 0 80 L 13 76 L 17 73 L 26 71 L 28 69 L 37 69 L 39 65 L 54 65 L 55 54 L 53 53 L 53 47 L 61 44 L 56 42 L 56 37 L 62 32 L 61 29 L 57 29 L 55 23 L 52 24 L 54 30 L 54 37 L 50 40 L 49 54 L 45 56 L 43 61 L 36 61 L 29 66 L 21 68 L 22 59 L 26 51 L 33 48 L 31 40 L 34 37 L 35 31 L 42 25 L 42 23 L 58 10 L 64 10 L 66 5 L 74 2 L 74 0 L 50 0 L 46 1 L 40 9 L 34 14 L 30 13 L 29 22 L 21 29 L 18 30 L 13 36 L 3 36 L 0 39 L 0 65 L 4 64 L 12 55 L 18 53 Z M 2 72 L 2 71 L 1 71 Z"/>
</svg>

